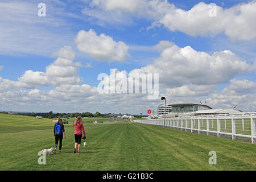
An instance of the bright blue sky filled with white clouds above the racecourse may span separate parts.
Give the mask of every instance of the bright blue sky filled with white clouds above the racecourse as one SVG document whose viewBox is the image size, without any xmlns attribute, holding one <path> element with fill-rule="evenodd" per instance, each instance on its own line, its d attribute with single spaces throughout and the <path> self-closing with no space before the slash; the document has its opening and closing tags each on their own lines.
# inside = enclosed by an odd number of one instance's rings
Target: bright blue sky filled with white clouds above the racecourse
<svg viewBox="0 0 256 182">
<path fill-rule="evenodd" d="M 256 111 L 255 9 L 254 0 L 1 0 L 0 110 L 146 114 L 166 97 Z M 112 71 L 114 92 L 101 93 Z M 157 75 L 156 97 L 136 79 L 138 93 L 117 92 L 132 74 Z"/>
</svg>

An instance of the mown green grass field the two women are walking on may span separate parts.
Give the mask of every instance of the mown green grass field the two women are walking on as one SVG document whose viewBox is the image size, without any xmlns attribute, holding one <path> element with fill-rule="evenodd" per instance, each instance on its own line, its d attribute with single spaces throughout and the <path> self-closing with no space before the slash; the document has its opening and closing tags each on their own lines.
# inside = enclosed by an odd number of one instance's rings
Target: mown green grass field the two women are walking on
<svg viewBox="0 0 256 182">
<path fill-rule="evenodd" d="M 96 120 L 93 118 L 93 121 Z M 61 154 L 38 152 L 54 145 L 52 119 L 0 114 L 0 170 L 255 170 L 256 145 L 131 122 L 85 123 L 88 147 L 74 154 L 72 123 L 65 125 Z M 217 164 L 208 163 L 216 151 Z"/>
</svg>

